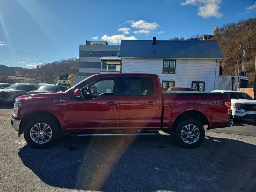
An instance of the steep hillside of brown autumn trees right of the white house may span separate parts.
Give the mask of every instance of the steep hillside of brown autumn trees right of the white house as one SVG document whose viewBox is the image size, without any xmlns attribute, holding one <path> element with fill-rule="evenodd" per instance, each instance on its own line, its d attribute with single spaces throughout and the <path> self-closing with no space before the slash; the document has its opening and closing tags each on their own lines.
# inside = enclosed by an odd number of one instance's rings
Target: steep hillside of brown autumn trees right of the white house
<svg viewBox="0 0 256 192">
<path fill-rule="evenodd" d="M 214 40 L 218 44 L 225 56 L 223 59 L 223 75 L 234 75 L 236 63 L 239 63 L 239 71 L 242 71 L 243 53 L 239 46 L 252 45 L 252 49 L 247 51 L 246 76 L 249 76 L 248 84 L 254 85 L 254 65 L 256 51 L 256 18 L 247 20 L 241 19 L 237 23 L 228 23 L 214 30 Z"/>
</svg>

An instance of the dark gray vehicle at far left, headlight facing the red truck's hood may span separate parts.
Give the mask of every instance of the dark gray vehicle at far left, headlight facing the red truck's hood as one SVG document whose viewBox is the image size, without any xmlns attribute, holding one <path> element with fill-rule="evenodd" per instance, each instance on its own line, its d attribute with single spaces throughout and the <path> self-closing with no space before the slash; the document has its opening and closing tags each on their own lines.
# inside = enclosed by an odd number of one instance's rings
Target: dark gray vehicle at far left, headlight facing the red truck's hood
<svg viewBox="0 0 256 192">
<path fill-rule="evenodd" d="M 5 89 L 0 89 L 0 103 L 13 103 L 15 98 L 26 95 L 27 92 L 39 88 L 37 84 L 15 83 Z"/>
</svg>

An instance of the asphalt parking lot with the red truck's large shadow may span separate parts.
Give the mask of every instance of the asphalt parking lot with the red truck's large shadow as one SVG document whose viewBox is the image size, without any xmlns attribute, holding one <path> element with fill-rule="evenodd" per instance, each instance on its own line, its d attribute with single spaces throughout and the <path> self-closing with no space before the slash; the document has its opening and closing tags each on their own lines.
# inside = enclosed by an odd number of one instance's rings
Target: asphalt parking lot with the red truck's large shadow
<svg viewBox="0 0 256 192">
<path fill-rule="evenodd" d="M 206 131 L 183 149 L 172 136 L 61 136 L 33 149 L 0 106 L 0 191 L 256 191 L 256 123 Z"/>
</svg>

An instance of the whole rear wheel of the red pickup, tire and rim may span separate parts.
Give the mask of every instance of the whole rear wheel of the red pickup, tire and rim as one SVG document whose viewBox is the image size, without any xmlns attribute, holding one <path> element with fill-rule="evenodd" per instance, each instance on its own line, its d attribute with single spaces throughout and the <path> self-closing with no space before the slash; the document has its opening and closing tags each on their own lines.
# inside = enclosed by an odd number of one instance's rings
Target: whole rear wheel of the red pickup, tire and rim
<svg viewBox="0 0 256 192">
<path fill-rule="evenodd" d="M 184 148 L 196 148 L 205 138 L 203 125 L 195 119 L 187 119 L 177 124 L 175 140 Z"/>
</svg>

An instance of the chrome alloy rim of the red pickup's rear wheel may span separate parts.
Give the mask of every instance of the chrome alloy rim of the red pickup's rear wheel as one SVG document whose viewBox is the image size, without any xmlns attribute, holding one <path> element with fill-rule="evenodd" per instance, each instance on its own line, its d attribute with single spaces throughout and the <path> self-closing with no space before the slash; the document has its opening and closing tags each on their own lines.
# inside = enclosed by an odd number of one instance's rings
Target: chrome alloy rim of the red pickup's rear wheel
<svg viewBox="0 0 256 192">
<path fill-rule="evenodd" d="M 188 124 L 181 129 L 181 138 L 186 143 L 195 143 L 200 136 L 200 131 L 197 126 Z"/>
</svg>

